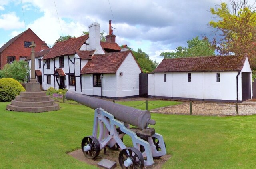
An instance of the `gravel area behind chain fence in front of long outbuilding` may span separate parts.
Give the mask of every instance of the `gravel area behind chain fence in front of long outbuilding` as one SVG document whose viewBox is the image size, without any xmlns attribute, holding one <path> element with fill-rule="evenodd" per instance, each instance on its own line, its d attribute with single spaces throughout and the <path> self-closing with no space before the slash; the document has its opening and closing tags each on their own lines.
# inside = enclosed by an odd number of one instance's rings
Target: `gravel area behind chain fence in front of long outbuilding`
<svg viewBox="0 0 256 169">
<path fill-rule="evenodd" d="M 189 114 L 189 102 L 151 110 L 155 113 Z M 238 103 L 239 115 L 256 114 L 256 105 Z M 228 103 L 192 103 L 193 115 L 236 115 L 236 105 Z"/>
</svg>

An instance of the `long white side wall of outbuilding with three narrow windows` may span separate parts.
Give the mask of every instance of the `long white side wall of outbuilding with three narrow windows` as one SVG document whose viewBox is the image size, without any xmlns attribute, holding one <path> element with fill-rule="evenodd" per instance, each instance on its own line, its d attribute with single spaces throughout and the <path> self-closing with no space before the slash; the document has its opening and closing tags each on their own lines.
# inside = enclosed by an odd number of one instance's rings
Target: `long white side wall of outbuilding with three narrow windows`
<svg viewBox="0 0 256 169">
<path fill-rule="evenodd" d="M 188 73 L 191 73 L 191 82 L 188 82 Z M 216 73 L 220 73 L 220 82 L 216 82 Z M 237 74 L 238 72 L 167 72 L 166 82 L 164 73 L 149 74 L 148 95 L 236 100 Z"/>
</svg>

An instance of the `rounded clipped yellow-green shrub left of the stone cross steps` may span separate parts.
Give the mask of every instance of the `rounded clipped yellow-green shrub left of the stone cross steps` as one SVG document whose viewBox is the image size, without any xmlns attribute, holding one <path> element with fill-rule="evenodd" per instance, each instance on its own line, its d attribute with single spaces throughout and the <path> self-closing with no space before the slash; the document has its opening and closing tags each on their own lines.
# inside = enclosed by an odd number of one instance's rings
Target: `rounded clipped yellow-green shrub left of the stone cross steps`
<svg viewBox="0 0 256 169">
<path fill-rule="evenodd" d="M 0 101 L 6 102 L 15 99 L 21 91 L 25 91 L 24 87 L 15 79 L 2 78 L 0 79 Z"/>
</svg>

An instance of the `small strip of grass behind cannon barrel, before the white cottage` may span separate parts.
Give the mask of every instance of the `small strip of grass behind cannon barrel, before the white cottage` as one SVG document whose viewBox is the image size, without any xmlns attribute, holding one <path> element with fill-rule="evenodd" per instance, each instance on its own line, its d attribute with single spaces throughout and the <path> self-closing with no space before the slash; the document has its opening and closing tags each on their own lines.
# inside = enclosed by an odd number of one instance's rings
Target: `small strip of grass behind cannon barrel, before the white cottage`
<svg viewBox="0 0 256 169">
<path fill-rule="evenodd" d="M 116 103 L 134 107 L 136 109 L 141 109 L 141 110 L 146 110 L 146 100 L 143 101 L 117 101 Z M 168 105 L 176 105 L 176 104 L 181 104 L 180 102 L 177 101 L 163 101 L 163 100 L 154 100 L 148 101 L 148 110 L 151 109 L 156 109 L 159 107 L 166 107 Z"/>
</svg>

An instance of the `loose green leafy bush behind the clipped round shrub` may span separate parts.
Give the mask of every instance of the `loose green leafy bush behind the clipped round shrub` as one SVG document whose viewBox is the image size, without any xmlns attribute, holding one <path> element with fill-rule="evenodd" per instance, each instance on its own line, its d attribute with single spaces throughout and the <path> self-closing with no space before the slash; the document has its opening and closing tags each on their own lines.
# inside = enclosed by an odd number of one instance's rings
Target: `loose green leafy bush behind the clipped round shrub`
<svg viewBox="0 0 256 169">
<path fill-rule="evenodd" d="M 1 78 L 13 78 L 19 82 L 25 82 L 26 76 L 29 74 L 30 68 L 28 63 L 24 60 L 14 61 L 12 64 L 6 64 L 2 70 L 0 70 Z"/>
</svg>

